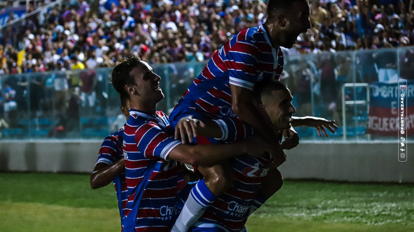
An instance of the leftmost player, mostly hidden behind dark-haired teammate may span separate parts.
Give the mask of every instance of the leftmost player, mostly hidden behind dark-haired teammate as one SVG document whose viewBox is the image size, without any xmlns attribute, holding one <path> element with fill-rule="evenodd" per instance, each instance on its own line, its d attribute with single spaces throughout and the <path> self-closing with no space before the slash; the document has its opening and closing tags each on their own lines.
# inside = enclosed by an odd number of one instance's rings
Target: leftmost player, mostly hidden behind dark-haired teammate
<svg viewBox="0 0 414 232">
<path fill-rule="evenodd" d="M 130 103 L 128 98 L 120 96 L 121 112 L 128 120 L 130 113 Z M 92 189 L 98 189 L 106 186 L 113 181 L 116 198 L 118 200 L 119 215 L 125 216 L 127 206 L 127 182 L 125 180 L 125 160 L 122 151 L 122 133 L 123 127 L 115 133 L 107 136 L 99 149 L 98 160 L 92 172 L 90 185 Z"/>
</svg>

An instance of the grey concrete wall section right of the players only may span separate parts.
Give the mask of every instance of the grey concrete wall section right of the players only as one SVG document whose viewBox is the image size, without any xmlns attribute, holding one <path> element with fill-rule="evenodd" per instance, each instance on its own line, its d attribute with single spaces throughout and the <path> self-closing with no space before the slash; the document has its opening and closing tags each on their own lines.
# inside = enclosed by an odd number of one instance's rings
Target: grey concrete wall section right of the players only
<svg viewBox="0 0 414 232">
<path fill-rule="evenodd" d="M 408 149 L 411 146 L 407 144 Z M 396 142 L 303 142 L 285 153 L 286 162 L 279 168 L 285 178 L 414 182 L 414 152 L 408 152 L 406 162 L 399 162 Z"/>
</svg>

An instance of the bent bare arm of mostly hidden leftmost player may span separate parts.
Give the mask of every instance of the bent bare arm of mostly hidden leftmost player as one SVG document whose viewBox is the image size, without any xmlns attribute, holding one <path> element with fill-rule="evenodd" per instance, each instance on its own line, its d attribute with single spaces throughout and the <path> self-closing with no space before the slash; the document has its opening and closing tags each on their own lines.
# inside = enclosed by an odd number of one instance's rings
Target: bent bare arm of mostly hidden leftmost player
<svg viewBox="0 0 414 232">
<path fill-rule="evenodd" d="M 105 187 L 123 171 L 125 171 L 125 160 L 123 158 L 111 165 L 103 162 L 97 163 L 89 181 L 91 188 Z"/>
</svg>

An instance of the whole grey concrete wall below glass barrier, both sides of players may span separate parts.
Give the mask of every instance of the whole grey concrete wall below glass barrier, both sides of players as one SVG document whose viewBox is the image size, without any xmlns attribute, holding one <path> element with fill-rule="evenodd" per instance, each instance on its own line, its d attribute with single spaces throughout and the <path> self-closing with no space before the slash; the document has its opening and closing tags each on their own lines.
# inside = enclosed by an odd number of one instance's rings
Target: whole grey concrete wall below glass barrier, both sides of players
<svg viewBox="0 0 414 232">
<path fill-rule="evenodd" d="M 0 141 L 0 171 L 91 172 L 102 141 Z M 407 148 L 414 146 L 408 144 Z M 280 166 L 286 179 L 368 182 L 414 182 L 414 153 L 399 162 L 390 141 L 302 142 L 286 151 Z"/>
</svg>

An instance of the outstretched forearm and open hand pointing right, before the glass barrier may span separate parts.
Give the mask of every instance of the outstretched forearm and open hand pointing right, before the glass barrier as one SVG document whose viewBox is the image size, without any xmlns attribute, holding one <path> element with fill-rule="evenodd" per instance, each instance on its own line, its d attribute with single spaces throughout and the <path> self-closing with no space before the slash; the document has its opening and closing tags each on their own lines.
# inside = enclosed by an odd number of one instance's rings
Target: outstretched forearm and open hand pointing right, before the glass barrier
<svg viewBox="0 0 414 232">
<path fill-rule="evenodd" d="M 323 134 L 328 137 L 325 128 L 330 132 L 335 133 L 335 130 L 338 129 L 338 126 L 335 124 L 335 120 L 327 120 L 324 118 L 306 116 L 306 117 L 292 117 L 292 126 L 309 126 L 315 127 L 319 136 Z"/>
</svg>

